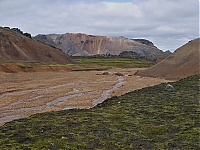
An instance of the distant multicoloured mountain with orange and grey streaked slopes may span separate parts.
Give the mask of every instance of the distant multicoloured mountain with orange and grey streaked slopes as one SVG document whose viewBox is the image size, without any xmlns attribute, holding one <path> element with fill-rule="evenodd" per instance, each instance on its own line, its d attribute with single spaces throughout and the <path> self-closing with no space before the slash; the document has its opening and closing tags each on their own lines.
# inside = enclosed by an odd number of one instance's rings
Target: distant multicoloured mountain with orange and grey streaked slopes
<svg viewBox="0 0 200 150">
<path fill-rule="evenodd" d="M 38 41 L 57 47 L 70 56 L 92 56 L 98 54 L 139 57 L 149 60 L 165 58 L 169 53 L 159 50 L 145 39 L 128 39 L 125 37 L 94 36 L 81 33 L 39 34 Z"/>
</svg>

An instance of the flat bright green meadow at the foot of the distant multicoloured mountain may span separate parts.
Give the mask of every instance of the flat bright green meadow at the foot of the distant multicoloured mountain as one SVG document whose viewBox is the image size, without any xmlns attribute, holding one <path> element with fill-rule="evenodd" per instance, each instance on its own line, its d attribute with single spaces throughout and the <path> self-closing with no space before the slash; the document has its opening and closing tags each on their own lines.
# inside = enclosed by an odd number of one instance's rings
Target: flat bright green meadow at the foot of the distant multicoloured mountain
<svg viewBox="0 0 200 150">
<path fill-rule="evenodd" d="M 154 63 L 147 60 L 130 58 L 75 58 L 82 65 L 99 65 L 115 68 L 144 68 L 153 66 Z"/>
</svg>

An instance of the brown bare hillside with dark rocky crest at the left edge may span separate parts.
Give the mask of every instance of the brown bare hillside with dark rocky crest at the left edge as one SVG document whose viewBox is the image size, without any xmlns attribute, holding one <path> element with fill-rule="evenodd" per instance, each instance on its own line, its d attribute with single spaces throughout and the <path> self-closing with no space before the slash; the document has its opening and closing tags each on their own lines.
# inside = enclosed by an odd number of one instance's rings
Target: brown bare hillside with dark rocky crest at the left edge
<svg viewBox="0 0 200 150">
<path fill-rule="evenodd" d="M 0 61 L 39 61 L 71 63 L 73 60 L 62 51 L 31 38 L 17 28 L 0 27 Z"/>
</svg>

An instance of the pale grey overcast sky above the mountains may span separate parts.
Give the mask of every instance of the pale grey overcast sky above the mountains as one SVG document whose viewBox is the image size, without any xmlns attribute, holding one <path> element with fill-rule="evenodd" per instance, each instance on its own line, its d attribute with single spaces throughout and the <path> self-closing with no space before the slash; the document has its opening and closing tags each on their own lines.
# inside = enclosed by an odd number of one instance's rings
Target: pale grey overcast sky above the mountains
<svg viewBox="0 0 200 150">
<path fill-rule="evenodd" d="M 199 37 L 199 0 L 0 0 L 0 26 L 145 38 L 174 51 Z"/>
</svg>

